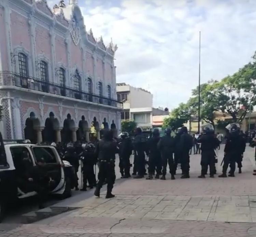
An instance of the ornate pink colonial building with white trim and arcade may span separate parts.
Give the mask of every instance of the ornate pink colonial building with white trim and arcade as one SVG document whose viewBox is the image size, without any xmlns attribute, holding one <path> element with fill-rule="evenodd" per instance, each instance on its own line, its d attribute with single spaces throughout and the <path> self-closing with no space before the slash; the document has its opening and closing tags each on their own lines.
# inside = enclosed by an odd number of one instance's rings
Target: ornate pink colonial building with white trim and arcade
<svg viewBox="0 0 256 237">
<path fill-rule="evenodd" d="M 57 1 L 57 0 L 56 0 Z M 87 31 L 77 0 L 0 0 L 0 104 L 5 139 L 89 140 L 120 130 L 114 54 Z"/>
</svg>

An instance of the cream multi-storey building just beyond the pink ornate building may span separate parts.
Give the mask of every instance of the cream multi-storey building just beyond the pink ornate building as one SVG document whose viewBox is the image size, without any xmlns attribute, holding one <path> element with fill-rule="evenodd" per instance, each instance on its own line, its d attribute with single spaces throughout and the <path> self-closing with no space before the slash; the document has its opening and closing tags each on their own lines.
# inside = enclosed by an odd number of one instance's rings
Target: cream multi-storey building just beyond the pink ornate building
<svg viewBox="0 0 256 237">
<path fill-rule="evenodd" d="M 123 102 L 122 120 L 133 120 L 144 131 L 152 128 L 153 95 L 125 83 L 116 84 L 117 100 Z"/>
</svg>

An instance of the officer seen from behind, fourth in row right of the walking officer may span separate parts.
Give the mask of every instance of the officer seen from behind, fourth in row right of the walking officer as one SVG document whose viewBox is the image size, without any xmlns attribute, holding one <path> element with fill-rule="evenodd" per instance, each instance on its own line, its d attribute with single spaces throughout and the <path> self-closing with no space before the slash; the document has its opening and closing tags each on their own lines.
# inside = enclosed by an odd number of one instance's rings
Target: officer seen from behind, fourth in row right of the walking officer
<svg viewBox="0 0 256 237">
<path fill-rule="evenodd" d="M 161 177 L 162 180 L 166 179 L 166 168 L 167 168 L 167 162 L 169 164 L 169 169 L 171 173 L 171 179 L 175 179 L 175 166 L 174 166 L 174 160 L 173 160 L 173 152 L 174 152 L 174 138 L 171 137 L 171 129 L 166 128 L 165 129 L 165 136 L 160 139 L 158 142 L 158 148 L 161 152 L 162 157 L 162 166 L 163 166 L 163 175 Z"/>
</svg>

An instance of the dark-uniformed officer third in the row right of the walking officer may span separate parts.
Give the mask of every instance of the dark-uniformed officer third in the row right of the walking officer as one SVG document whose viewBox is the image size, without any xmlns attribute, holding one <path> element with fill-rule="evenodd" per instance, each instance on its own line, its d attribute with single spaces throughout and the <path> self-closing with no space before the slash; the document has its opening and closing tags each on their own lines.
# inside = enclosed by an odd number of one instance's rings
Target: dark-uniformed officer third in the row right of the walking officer
<svg viewBox="0 0 256 237">
<path fill-rule="evenodd" d="M 161 173 L 161 153 L 157 144 L 160 140 L 160 133 L 157 128 L 152 132 L 152 137 L 147 141 L 147 155 L 148 155 L 148 177 L 146 179 L 153 179 L 156 171 L 155 178 L 158 179 Z"/>
</svg>

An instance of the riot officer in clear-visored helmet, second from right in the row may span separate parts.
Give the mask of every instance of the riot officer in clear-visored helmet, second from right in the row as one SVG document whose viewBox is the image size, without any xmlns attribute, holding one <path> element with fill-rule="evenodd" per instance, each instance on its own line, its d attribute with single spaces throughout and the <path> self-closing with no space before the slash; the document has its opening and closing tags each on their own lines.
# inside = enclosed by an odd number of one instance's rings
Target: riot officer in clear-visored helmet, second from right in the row
<svg viewBox="0 0 256 237">
<path fill-rule="evenodd" d="M 211 124 L 204 126 L 203 135 L 198 138 L 201 143 L 201 175 L 198 178 L 205 178 L 205 174 L 210 167 L 210 177 L 214 178 L 215 174 L 215 152 L 219 145 L 219 140 L 214 137 L 214 128 Z"/>
</svg>

